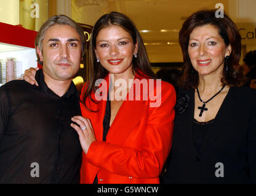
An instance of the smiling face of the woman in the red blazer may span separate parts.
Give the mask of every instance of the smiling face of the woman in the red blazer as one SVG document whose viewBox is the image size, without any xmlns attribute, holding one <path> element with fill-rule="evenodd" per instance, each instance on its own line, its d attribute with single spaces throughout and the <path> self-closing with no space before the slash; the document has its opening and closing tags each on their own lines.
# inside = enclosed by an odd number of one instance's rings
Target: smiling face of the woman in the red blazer
<svg viewBox="0 0 256 196">
<path fill-rule="evenodd" d="M 110 25 L 98 32 L 95 54 L 110 74 L 132 73 L 132 59 L 138 44 L 123 28 Z"/>
</svg>

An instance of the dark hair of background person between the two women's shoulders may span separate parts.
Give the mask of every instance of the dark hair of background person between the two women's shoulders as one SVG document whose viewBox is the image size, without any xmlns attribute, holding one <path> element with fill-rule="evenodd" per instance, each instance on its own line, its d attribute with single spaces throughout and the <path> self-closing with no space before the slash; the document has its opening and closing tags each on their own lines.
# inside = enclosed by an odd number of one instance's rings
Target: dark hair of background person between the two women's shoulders
<svg viewBox="0 0 256 196">
<path fill-rule="evenodd" d="M 181 75 L 182 71 L 178 69 L 160 69 L 156 72 L 156 77 L 172 84 L 176 92 L 178 89 L 178 79 Z"/>
</svg>

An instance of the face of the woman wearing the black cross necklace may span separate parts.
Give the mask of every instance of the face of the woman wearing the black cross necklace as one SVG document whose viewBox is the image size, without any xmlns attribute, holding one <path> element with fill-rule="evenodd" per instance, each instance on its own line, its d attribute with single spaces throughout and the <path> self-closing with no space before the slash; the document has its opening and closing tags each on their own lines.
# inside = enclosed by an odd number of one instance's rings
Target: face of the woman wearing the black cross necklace
<svg viewBox="0 0 256 196">
<path fill-rule="evenodd" d="M 222 74 L 224 58 L 230 53 L 230 45 L 226 47 L 215 26 L 199 26 L 191 32 L 188 54 L 199 75 Z"/>
</svg>

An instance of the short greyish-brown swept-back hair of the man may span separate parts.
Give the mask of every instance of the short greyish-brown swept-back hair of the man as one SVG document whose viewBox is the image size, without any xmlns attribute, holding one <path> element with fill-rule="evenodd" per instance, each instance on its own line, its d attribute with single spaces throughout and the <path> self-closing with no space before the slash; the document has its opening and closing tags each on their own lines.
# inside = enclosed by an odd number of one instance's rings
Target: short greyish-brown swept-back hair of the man
<svg viewBox="0 0 256 196">
<path fill-rule="evenodd" d="M 65 15 L 55 15 L 50 17 L 39 29 L 38 34 L 36 35 L 36 40 L 34 41 L 35 48 L 39 47 L 39 50 L 42 51 L 42 40 L 44 39 L 44 35 L 46 34 L 47 29 L 54 25 L 70 25 L 71 27 L 78 32 L 79 38 L 81 39 L 81 50 L 82 56 L 86 53 L 86 36 L 84 36 L 84 31 L 82 28 L 70 17 Z M 38 51 L 36 51 L 36 56 L 38 58 L 38 62 L 42 64 L 40 58 L 38 56 Z"/>
</svg>

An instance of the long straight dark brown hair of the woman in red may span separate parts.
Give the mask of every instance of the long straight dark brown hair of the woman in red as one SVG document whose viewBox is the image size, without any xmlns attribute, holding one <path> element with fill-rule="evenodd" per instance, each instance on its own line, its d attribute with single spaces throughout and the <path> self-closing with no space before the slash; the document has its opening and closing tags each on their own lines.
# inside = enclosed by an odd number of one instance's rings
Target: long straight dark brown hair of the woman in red
<svg viewBox="0 0 256 196">
<path fill-rule="evenodd" d="M 129 32 L 132 36 L 134 44 L 136 42 L 138 43 L 137 58 L 132 59 L 133 72 L 143 75 L 143 77 L 155 78 L 154 72 L 151 70 L 150 61 L 148 60 L 148 55 L 146 53 L 146 48 L 144 46 L 142 37 L 140 36 L 140 33 L 138 32 L 138 29 L 135 27 L 132 20 L 130 20 L 130 18 L 122 13 L 107 13 L 100 17 L 95 23 L 94 28 L 92 29 L 92 35 L 90 36 L 89 81 L 86 84 L 86 88 L 84 88 L 82 92 L 82 101 L 85 106 L 87 97 L 95 102 L 95 100 L 93 100 L 90 96 L 92 91 L 95 92 L 97 90 L 97 87 L 94 86 L 95 81 L 100 78 L 105 78 L 108 74 L 108 70 L 106 70 L 100 64 L 100 62 L 97 62 L 94 49 L 96 48 L 96 38 L 98 36 L 98 32 L 100 32 L 101 29 L 105 29 L 110 25 L 119 26 L 125 31 Z M 138 72 L 138 70 L 140 70 L 142 74 Z M 89 109 L 87 106 L 86 108 Z"/>
</svg>

